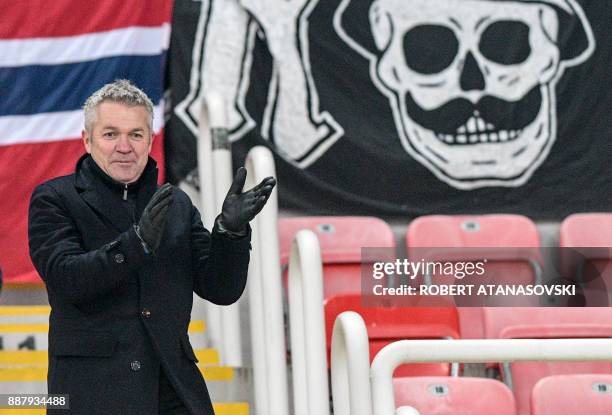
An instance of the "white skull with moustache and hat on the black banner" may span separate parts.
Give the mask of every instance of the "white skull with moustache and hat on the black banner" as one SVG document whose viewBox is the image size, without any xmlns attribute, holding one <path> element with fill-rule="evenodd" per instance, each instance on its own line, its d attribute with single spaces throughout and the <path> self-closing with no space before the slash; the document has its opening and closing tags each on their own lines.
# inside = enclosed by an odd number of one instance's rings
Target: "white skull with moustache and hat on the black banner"
<svg viewBox="0 0 612 415">
<path fill-rule="evenodd" d="M 370 59 L 406 151 L 459 189 L 525 183 L 556 139 L 557 81 L 595 48 L 574 0 L 376 0 L 373 51 L 344 30 L 350 2 L 336 30 Z"/>
</svg>

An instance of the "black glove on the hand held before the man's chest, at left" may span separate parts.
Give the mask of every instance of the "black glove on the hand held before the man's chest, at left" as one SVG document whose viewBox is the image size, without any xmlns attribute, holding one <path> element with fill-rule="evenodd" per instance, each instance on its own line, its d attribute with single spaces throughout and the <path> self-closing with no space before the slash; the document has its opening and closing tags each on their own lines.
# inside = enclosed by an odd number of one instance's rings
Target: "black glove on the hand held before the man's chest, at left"
<svg viewBox="0 0 612 415">
<path fill-rule="evenodd" d="M 145 249 L 155 253 L 164 233 L 168 208 L 172 204 L 172 185 L 164 184 L 157 189 L 144 211 L 136 227 L 136 234 L 144 243 Z"/>
</svg>

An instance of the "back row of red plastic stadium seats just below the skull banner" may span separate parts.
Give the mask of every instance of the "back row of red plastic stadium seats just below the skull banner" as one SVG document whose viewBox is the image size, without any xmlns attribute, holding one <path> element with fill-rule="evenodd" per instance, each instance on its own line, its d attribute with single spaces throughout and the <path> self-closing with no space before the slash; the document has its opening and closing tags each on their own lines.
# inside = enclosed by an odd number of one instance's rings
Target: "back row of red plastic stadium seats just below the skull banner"
<svg viewBox="0 0 612 415">
<path fill-rule="evenodd" d="M 326 265 L 325 297 L 360 290 L 361 285 L 355 281 L 361 275 L 360 263 L 375 254 L 364 248 L 386 248 L 392 256 L 397 249 L 393 231 L 378 218 L 285 218 L 279 220 L 283 265 L 287 264 L 293 237 L 300 229 L 310 229 L 319 238 Z M 569 216 L 561 224 L 559 240 L 564 277 L 588 281 L 585 272 L 591 270 L 612 278 L 612 213 Z M 408 259 L 457 261 L 488 257 L 492 260 L 487 266 L 489 279 L 506 274 L 512 276 L 513 283 L 523 284 L 540 282 L 542 278 L 540 236 L 535 224 L 525 216 L 422 216 L 409 224 L 405 243 Z"/>
</svg>

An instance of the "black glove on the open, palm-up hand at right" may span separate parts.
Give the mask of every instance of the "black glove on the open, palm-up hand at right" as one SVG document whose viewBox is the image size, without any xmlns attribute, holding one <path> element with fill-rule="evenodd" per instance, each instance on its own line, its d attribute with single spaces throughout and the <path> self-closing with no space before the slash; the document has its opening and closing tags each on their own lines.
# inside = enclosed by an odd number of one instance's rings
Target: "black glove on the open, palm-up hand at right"
<svg viewBox="0 0 612 415">
<path fill-rule="evenodd" d="M 251 190 L 242 193 L 246 180 L 246 169 L 240 167 L 234 182 L 225 196 L 221 209 L 221 225 L 230 232 L 241 232 L 263 209 L 272 189 L 276 185 L 273 177 L 266 177 Z"/>
</svg>

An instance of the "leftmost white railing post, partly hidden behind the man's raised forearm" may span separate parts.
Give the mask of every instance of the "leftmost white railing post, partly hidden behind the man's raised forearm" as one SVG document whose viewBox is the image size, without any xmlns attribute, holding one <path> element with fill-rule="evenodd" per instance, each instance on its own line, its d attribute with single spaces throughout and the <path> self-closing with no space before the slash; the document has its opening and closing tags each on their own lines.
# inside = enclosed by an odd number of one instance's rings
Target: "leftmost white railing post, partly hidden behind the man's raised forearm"
<svg viewBox="0 0 612 415">
<path fill-rule="evenodd" d="M 198 172 L 200 206 L 207 229 L 212 229 L 232 183 L 232 153 L 226 114 L 223 97 L 214 91 L 206 94 L 199 122 Z M 206 303 L 206 320 L 212 346 L 219 350 L 221 362 L 233 367 L 243 366 L 239 304 L 240 301 L 219 307 Z"/>
</svg>

